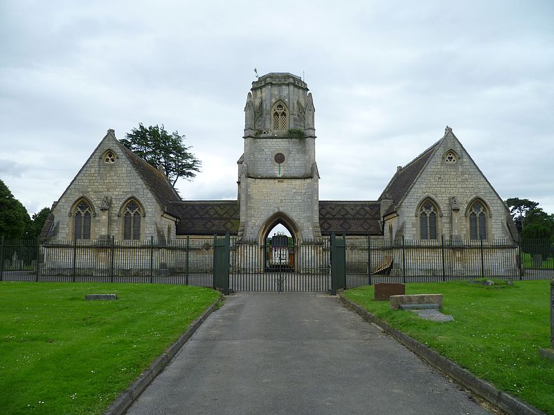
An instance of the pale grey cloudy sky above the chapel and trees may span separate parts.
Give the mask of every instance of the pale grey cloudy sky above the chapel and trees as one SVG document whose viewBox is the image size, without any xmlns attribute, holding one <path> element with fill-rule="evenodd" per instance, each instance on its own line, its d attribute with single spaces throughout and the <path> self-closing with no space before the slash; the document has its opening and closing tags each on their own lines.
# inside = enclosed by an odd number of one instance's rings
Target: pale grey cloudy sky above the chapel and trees
<svg viewBox="0 0 554 415">
<path fill-rule="evenodd" d="M 0 3 L 0 178 L 32 214 L 106 130 L 186 134 L 184 199 L 234 199 L 244 102 L 303 76 L 320 199 L 375 200 L 453 128 L 503 199 L 554 212 L 553 1 Z"/>
</svg>

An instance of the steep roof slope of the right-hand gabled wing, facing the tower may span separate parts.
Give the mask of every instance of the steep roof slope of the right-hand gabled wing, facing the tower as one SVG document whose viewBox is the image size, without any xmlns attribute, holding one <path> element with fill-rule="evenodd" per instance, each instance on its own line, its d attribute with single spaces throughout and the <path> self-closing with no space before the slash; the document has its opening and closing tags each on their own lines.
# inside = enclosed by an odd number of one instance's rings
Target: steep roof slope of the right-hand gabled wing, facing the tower
<svg viewBox="0 0 554 415">
<path fill-rule="evenodd" d="M 406 196 L 411 189 L 415 179 L 418 178 L 429 162 L 429 159 L 435 154 L 439 143 L 440 140 L 423 151 L 422 154 L 414 158 L 410 163 L 402 167 L 402 169 L 398 170 L 393 178 L 391 178 L 391 181 L 388 182 L 385 190 L 383 190 L 381 196 L 379 196 L 379 201 L 382 199 L 392 199 L 393 201 L 391 207 L 384 213 L 384 216 L 396 211 L 400 202 L 404 199 L 404 196 Z"/>
</svg>

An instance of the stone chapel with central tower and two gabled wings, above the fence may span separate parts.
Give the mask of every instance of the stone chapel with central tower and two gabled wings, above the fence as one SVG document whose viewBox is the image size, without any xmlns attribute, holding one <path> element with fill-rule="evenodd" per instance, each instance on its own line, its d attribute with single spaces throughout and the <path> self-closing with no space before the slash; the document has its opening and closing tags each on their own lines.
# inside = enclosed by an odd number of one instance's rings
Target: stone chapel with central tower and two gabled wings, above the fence
<svg viewBox="0 0 554 415">
<path fill-rule="evenodd" d="M 517 238 L 508 208 L 449 127 L 397 168 L 377 200 L 320 201 L 307 84 L 291 73 L 260 76 L 244 113 L 237 200 L 182 200 L 109 129 L 54 203 L 42 239 L 169 242 L 229 232 L 263 244 L 278 223 L 297 243 L 332 233 L 390 241 Z"/>
</svg>

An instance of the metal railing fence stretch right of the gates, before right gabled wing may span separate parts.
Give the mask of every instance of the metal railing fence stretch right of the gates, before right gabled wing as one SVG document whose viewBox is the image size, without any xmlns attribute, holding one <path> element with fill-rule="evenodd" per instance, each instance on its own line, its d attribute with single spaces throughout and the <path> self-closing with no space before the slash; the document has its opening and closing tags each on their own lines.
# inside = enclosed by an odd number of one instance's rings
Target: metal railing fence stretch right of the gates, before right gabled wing
<svg viewBox="0 0 554 415">
<path fill-rule="evenodd" d="M 530 261 L 527 252 L 542 252 Z M 375 282 L 441 282 L 461 279 L 550 279 L 549 241 L 463 239 L 386 241 L 346 237 L 346 286 Z"/>
</svg>

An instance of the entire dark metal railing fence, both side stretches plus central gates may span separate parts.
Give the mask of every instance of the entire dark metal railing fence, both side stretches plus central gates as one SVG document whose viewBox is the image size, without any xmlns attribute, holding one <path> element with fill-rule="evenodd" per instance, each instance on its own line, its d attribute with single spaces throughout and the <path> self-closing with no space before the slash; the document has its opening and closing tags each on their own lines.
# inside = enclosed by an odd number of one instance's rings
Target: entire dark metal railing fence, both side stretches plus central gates
<svg viewBox="0 0 554 415">
<path fill-rule="evenodd" d="M 330 240 L 279 251 L 231 239 L 229 288 L 235 291 L 329 291 Z M 277 258 L 275 255 L 278 255 Z M 554 278 L 554 241 L 393 243 L 346 237 L 346 286 L 474 278 Z M 141 282 L 213 286 L 213 237 L 166 243 L 0 239 L 0 281 Z"/>
</svg>

